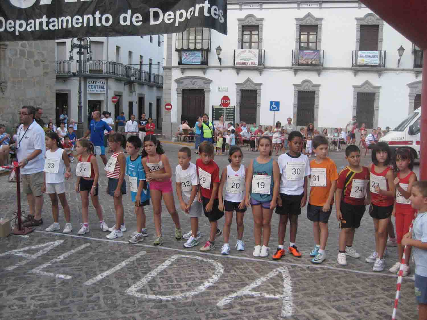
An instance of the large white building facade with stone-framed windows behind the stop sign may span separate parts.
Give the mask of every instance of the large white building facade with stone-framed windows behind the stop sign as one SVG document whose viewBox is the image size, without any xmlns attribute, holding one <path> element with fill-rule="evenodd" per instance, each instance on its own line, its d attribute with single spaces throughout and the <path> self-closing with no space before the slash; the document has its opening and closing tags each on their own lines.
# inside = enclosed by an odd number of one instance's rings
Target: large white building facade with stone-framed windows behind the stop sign
<svg viewBox="0 0 427 320">
<path fill-rule="evenodd" d="M 164 133 L 202 113 L 217 120 L 223 96 L 234 106 L 227 122 L 291 117 L 316 128 L 344 128 L 352 116 L 394 128 L 421 105 L 422 51 L 358 1 L 229 0 L 227 19 L 228 35 L 165 36 L 164 102 L 173 108 Z"/>
</svg>

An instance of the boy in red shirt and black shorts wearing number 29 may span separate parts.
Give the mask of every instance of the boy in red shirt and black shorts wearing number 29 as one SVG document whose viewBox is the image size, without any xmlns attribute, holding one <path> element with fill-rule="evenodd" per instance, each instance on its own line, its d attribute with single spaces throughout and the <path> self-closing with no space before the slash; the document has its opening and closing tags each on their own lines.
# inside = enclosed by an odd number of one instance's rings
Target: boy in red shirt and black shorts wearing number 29
<svg viewBox="0 0 427 320">
<path fill-rule="evenodd" d="M 222 231 L 218 229 L 218 220 L 222 218 L 224 212 L 218 209 L 218 187 L 219 187 L 219 167 L 213 161 L 213 144 L 203 141 L 199 145 L 200 158 L 196 161 L 197 176 L 199 177 L 199 202 L 203 204 L 203 212 L 211 223 L 211 234 L 209 241 L 200 248 L 200 251 L 215 249 L 215 237 L 220 236 Z"/>
</svg>

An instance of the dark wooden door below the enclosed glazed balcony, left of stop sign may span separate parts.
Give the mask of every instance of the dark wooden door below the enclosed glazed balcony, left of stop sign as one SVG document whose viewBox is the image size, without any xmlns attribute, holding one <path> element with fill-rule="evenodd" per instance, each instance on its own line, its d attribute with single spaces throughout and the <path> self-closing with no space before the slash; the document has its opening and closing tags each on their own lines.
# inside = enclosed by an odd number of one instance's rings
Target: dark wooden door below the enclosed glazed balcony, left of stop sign
<svg viewBox="0 0 427 320">
<path fill-rule="evenodd" d="M 205 90 L 182 90 L 182 120 L 187 120 L 190 127 L 194 127 L 197 118 L 205 113 Z M 210 119 L 212 121 L 212 119 Z"/>
</svg>

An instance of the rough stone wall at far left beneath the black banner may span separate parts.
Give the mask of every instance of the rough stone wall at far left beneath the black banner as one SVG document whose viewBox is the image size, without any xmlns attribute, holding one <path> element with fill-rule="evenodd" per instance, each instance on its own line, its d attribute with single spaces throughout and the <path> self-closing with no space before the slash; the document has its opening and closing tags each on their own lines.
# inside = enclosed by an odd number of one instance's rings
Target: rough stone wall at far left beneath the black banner
<svg viewBox="0 0 427 320">
<path fill-rule="evenodd" d="M 43 108 L 55 119 L 55 41 L 0 43 L 0 123 L 7 132 L 19 124 L 22 105 Z"/>
</svg>

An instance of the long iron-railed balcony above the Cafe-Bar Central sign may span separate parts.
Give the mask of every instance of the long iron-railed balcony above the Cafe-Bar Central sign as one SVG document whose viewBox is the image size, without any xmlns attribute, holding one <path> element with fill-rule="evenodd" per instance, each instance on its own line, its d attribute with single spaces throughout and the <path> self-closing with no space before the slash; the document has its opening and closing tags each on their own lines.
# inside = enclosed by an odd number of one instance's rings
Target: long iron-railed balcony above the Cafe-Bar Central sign
<svg viewBox="0 0 427 320">
<path fill-rule="evenodd" d="M 76 71 L 73 71 L 76 70 Z M 78 61 L 59 60 L 55 61 L 55 73 L 60 77 L 77 76 L 79 72 Z M 83 63 L 82 76 L 107 76 L 123 81 L 129 80 L 130 76 L 135 76 L 135 82 L 153 84 L 163 87 L 163 76 L 157 73 L 133 67 L 129 64 L 121 64 L 114 61 L 93 60 Z"/>
</svg>

